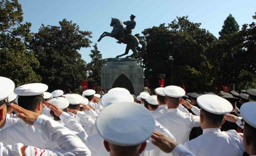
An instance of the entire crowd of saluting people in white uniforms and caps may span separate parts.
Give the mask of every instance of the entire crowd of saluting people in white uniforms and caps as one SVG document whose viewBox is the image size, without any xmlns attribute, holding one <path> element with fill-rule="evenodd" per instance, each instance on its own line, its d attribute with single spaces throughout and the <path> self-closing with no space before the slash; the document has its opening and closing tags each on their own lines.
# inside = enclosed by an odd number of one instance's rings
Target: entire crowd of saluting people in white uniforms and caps
<svg viewBox="0 0 256 156">
<path fill-rule="evenodd" d="M 0 77 L 0 156 L 256 155 L 256 89 L 240 94 L 240 107 L 235 92 L 186 100 L 174 85 L 136 98 L 125 88 L 47 90 Z M 227 123 L 235 128 L 223 131 Z M 202 134 L 191 138 L 193 129 Z"/>
</svg>

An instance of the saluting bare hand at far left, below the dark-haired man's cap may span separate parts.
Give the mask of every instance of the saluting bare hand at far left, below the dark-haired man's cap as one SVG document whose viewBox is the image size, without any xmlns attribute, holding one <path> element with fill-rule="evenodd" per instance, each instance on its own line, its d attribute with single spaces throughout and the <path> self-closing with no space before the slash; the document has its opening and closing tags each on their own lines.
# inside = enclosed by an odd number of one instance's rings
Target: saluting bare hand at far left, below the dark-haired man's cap
<svg viewBox="0 0 256 156">
<path fill-rule="evenodd" d="M 33 125 L 37 117 L 40 116 L 40 114 L 37 114 L 30 110 L 26 110 L 18 105 L 11 104 L 11 107 L 18 113 L 17 117 L 21 118 L 28 125 Z"/>
</svg>

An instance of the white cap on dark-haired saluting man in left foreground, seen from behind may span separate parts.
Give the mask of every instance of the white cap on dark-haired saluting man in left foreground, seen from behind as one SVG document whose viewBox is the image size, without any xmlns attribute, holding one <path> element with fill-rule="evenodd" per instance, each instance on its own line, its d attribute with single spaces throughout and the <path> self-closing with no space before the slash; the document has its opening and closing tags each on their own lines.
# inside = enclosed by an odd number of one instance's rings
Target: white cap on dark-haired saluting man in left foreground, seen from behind
<svg viewBox="0 0 256 156">
<path fill-rule="evenodd" d="M 14 93 L 18 96 L 35 96 L 43 94 L 47 89 L 46 84 L 30 83 L 15 88 Z"/>
</svg>

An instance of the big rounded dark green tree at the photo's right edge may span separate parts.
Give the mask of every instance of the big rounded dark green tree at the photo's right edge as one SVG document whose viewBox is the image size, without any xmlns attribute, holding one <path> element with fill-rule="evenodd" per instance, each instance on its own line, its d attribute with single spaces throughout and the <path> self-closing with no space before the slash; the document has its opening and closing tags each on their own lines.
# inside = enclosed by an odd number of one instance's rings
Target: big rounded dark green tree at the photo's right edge
<svg viewBox="0 0 256 156">
<path fill-rule="evenodd" d="M 207 58 L 213 65 L 215 79 L 224 85 L 235 84 L 236 90 L 252 87 L 256 82 L 255 45 L 255 22 L 213 42 L 207 49 Z"/>
</svg>

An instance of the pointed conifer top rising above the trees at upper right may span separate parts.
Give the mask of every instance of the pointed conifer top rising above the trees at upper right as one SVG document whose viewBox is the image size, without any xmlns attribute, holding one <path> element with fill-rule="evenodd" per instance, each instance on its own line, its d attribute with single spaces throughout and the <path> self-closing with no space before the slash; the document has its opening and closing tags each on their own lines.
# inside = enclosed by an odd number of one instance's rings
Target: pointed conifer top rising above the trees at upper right
<svg viewBox="0 0 256 156">
<path fill-rule="evenodd" d="M 222 39 L 224 35 L 232 34 L 237 31 L 239 31 L 238 22 L 236 22 L 232 14 L 229 14 L 226 20 L 224 21 L 222 30 L 219 31 L 219 39 Z"/>
</svg>

